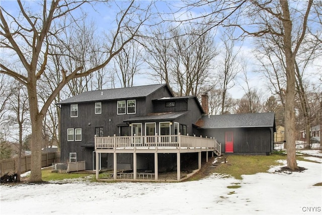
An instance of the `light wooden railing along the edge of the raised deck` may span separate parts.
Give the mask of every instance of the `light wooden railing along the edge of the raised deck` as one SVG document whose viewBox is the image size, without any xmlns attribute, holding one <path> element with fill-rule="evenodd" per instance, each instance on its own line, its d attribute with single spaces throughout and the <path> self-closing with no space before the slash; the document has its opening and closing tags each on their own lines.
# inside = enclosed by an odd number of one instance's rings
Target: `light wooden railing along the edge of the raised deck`
<svg viewBox="0 0 322 215">
<path fill-rule="evenodd" d="M 220 152 L 214 138 L 188 135 L 95 136 L 95 150 L 120 148 L 209 148 Z"/>
</svg>

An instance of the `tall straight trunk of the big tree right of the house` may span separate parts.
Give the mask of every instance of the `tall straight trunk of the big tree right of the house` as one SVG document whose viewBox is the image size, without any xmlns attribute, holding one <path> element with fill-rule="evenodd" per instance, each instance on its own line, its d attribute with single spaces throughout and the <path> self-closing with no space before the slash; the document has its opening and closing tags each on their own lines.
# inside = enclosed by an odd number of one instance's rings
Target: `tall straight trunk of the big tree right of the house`
<svg viewBox="0 0 322 215">
<path fill-rule="evenodd" d="M 285 137 L 287 149 L 287 167 L 291 170 L 298 169 L 295 150 L 295 56 L 292 52 L 292 22 L 287 1 L 280 1 L 283 10 L 284 26 L 284 51 L 286 59 L 286 101 L 285 101 Z"/>
</svg>

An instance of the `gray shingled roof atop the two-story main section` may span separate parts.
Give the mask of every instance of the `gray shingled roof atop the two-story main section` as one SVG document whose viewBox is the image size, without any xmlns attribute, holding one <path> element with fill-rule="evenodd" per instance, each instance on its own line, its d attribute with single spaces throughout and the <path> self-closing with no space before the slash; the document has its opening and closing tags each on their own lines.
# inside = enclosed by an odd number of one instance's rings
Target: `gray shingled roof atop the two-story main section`
<svg viewBox="0 0 322 215">
<path fill-rule="evenodd" d="M 166 84 L 145 85 L 128 88 L 115 88 L 108 90 L 87 91 L 76 96 L 70 97 L 56 104 L 72 104 L 81 102 L 94 102 L 115 99 L 141 98 L 146 97 L 154 91 L 167 86 Z M 168 88 L 168 87 L 167 87 Z M 169 92 L 172 94 L 170 89 Z"/>
</svg>

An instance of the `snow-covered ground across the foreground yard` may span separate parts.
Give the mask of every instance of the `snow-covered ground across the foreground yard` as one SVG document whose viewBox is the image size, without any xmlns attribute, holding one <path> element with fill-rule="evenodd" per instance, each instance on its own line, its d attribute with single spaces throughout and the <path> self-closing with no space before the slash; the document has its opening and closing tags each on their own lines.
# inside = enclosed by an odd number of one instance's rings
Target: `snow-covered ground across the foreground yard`
<svg viewBox="0 0 322 215">
<path fill-rule="evenodd" d="M 277 166 L 243 180 L 2 185 L 0 214 L 321 214 L 322 187 L 313 186 L 322 182 L 321 164 L 298 165 L 307 170 L 278 173 Z"/>
</svg>

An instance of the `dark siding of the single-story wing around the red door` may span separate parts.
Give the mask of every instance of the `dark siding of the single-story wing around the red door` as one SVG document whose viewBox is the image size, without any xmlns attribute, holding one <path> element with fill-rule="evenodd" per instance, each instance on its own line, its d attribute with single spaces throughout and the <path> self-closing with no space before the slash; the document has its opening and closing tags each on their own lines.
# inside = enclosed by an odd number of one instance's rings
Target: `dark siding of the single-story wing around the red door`
<svg viewBox="0 0 322 215">
<path fill-rule="evenodd" d="M 203 136 L 214 137 L 221 144 L 221 152 L 225 152 L 225 131 L 233 131 L 234 154 L 264 155 L 271 152 L 271 128 L 217 128 L 198 129 Z"/>
</svg>

